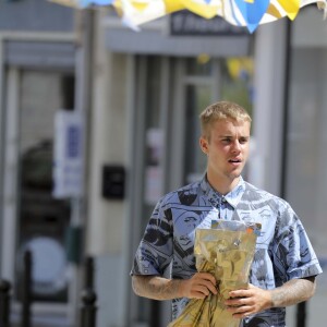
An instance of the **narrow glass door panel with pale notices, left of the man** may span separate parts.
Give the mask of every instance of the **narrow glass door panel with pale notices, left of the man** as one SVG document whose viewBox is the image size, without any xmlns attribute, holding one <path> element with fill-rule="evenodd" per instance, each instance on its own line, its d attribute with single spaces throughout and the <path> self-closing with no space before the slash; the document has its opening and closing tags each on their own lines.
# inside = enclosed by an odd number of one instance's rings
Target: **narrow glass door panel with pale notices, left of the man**
<svg viewBox="0 0 327 327">
<path fill-rule="evenodd" d="M 166 189 L 168 116 L 169 116 L 169 59 L 160 57 L 136 57 L 135 101 L 133 108 L 133 141 L 131 173 L 132 205 L 132 254 L 145 230 L 156 202 Z M 161 303 L 162 304 L 162 303 Z M 130 325 L 167 326 L 157 301 L 131 296 Z M 168 314 L 169 316 L 169 314 Z M 160 323 L 158 323 L 160 320 Z M 161 325 L 160 325 L 161 324 Z"/>
</svg>

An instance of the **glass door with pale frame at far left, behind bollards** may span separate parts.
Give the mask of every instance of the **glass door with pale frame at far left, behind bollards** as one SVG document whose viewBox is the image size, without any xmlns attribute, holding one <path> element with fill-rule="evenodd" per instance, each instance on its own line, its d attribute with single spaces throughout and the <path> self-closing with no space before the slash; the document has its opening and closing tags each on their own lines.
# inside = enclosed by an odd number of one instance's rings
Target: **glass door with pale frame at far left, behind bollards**
<svg viewBox="0 0 327 327">
<path fill-rule="evenodd" d="M 2 276 L 21 303 L 29 251 L 32 301 L 39 311 L 61 307 L 63 315 L 70 298 L 65 237 L 71 204 L 52 195 L 53 138 L 56 112 L 74 107 L 73 89 L 72 72 L 8 70 Z"/>
</svg>

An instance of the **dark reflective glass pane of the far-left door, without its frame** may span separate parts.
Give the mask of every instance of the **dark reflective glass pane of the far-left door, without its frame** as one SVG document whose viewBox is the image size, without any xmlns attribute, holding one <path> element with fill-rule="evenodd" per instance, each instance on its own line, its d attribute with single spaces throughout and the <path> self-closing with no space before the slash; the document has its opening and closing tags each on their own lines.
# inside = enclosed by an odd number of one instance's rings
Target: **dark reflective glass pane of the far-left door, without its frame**
<svg viewBox="0 0 327 327">
<path fill-rule="evenodd" d="M 21 87 L 19 227 L 15 298 L 22 296 L 24 253 L 32 252 L 32 296 L 68 301 L 65 232 L 70 202 L 52 196 L 55 113 L 73 98 L 74 78 L 56 72 L 23 71 Z M 68 95 L 69 94 L 69 95 Z M 51 259 L 49 259 L 51 258 Z M 56 272 L 56 274 L 55 274 Z"/>
</svg>

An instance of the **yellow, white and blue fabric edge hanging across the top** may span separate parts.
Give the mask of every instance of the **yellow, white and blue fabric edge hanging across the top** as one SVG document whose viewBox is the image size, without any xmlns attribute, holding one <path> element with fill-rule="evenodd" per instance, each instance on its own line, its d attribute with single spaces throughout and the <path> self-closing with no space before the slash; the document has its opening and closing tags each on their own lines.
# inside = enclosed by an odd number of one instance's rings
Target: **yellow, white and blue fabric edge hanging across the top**
<svg viewBox="0 0 327 327">
<path fill-rule="evenodd" d="M 294 20 L 301 8 L 316 3 L 327 12 L 327 0 L 52 0 L 55 2 L 87 8 L 113 7 L 122 21 L 137 29 L 143 23 L 154 21 L 180 10 L 189 10 L 205 19 L 221 16 L 237 26 L 246 26 L 252 33 L 259 24 L 288 16 Z"/>
</svg>

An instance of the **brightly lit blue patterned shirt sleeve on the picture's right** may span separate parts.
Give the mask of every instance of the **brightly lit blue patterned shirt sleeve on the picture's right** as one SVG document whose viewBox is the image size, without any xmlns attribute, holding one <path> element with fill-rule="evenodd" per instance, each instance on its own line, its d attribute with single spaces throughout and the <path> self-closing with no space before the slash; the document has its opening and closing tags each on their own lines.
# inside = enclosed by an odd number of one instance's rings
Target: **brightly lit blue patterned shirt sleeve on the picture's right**
<svg viewBox="0 0 327 327">
<path fill-rule="evenodd" d="M 280 210 L 275 234 L 272 256 L 277 286 L 323 272 L 304 227 L 289 204 Z"/>
</svg>

